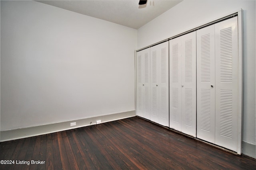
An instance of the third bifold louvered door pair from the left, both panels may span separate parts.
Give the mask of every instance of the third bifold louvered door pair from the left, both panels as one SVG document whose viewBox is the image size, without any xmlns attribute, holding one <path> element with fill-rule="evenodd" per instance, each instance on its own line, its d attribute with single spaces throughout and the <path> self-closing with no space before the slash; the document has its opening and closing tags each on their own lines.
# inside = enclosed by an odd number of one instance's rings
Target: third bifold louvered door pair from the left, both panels
<svg viewBox="0 0 256 170">
<path fill-rule="evenodd" d="M 170 40 L 170 128 L 196 137 L 196 32 Z"/>
</svg>

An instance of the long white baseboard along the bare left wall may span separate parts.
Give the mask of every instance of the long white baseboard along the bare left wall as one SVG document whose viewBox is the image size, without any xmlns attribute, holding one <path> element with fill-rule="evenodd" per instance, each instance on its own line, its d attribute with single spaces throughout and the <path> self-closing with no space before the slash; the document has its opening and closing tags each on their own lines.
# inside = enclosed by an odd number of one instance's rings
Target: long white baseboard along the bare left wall
<svg viewBox="0 0 256 170">
<path fill-rule="evenodd" d="M 105 123 L 108 121 L 115 121 L 119 119 L 125 119 L 128 117 L 134 117 L 136 115 L 135 110 L 126 111 L 122 113 L 115 113 L 110 115 L 103 115 L 97 117 L 91 117 L 86 119 L 78 119 L 73 121 L 66 121 L 61 123 L 54 123 L 49 125 L 42 125 L 36 127 L 28 127 L 22 129 L 14 129 L 8 131 L 0 132 L 0 142 L 11 141 L 15 139 L 22 139 L 26 137 L 33 137 L 38 135 L 44 135 L 48 133 L 54 133 L 59 131 L 65 131 L 69 129 L 75 129 L 78 127 L 85 127 L 90 125 L 95 125 L 96 121 L 101 120 L 101 123 Z M 70 127 L 70 123 L 76 122 L 76 126 Z"/>
</svg>

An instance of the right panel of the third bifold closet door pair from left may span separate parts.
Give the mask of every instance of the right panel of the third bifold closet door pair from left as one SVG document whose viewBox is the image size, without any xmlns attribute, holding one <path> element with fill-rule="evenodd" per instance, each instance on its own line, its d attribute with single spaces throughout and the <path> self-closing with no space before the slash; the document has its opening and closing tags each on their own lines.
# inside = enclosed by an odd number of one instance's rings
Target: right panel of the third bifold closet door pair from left
<svg viewBox="0 0 256 170">
<path fill-rule="evenodd" d="M 196 137 L 196 32 L 181 37 L 182 132 Z"/>
</svg>

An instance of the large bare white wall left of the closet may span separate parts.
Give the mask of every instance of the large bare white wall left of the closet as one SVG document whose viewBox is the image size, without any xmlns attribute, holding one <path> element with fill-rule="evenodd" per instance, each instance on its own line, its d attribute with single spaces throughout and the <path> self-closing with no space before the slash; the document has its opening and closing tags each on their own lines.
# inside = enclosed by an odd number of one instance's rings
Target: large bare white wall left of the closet
<svg viewBox="0 0 256 170">
<path fill-rule="evenodd" d="M 1 1 L 1 131 L 135 110 L 137 30 Z"/>
</svg>

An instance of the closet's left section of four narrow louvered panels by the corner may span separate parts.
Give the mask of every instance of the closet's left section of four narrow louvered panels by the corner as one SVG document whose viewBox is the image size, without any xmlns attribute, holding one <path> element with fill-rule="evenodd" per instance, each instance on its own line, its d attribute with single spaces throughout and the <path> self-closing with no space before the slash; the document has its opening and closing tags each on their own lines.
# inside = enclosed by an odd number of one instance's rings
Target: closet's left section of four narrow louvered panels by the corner
<svg viewBox="0 0 256 170">
<path fill-rule="evenodd" d="M 137 115 L 169 126 L 168 41 L 137 52 Z"/>
</svg>

